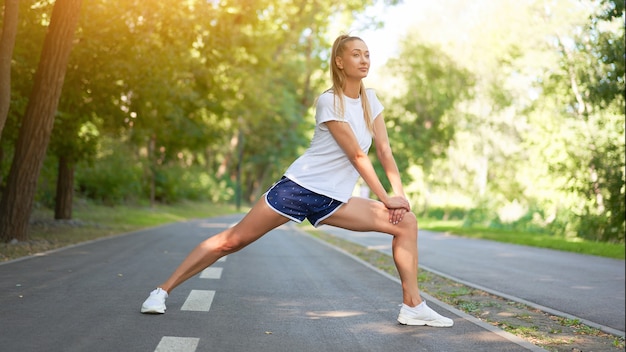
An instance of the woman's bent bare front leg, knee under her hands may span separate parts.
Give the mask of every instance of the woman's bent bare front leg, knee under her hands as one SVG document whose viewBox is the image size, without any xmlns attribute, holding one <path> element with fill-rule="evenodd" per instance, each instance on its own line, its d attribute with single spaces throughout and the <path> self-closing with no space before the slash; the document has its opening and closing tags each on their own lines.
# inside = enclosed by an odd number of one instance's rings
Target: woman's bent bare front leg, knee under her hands
<svg viewBox="0 0 626 352">
<path fill-rule="evenodd" d="M 321 222 L 353 231 L 376 231 L 393 236 L 393 259 L 402 282 L 403 302 L 415 307 L 422 302 L 417 283 L 417 218 L 411 212 L 398 224 L 389 222 L 389 210 L 379 201 L 353 197 Z"/>
</svg>

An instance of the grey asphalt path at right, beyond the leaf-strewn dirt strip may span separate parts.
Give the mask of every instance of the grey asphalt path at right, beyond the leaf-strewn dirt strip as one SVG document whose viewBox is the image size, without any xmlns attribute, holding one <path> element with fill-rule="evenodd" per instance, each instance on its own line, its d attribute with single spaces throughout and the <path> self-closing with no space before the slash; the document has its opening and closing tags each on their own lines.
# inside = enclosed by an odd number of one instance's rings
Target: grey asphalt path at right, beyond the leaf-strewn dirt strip
<svg viewBox="0 0 626 352">
<path fill-rule="evenodd" d="M 320 230 L 391 255 L 388 235 Z M 624 336 L 624 260 L 429 231 L 418 241 L 421 268 Z"/>
</svg>

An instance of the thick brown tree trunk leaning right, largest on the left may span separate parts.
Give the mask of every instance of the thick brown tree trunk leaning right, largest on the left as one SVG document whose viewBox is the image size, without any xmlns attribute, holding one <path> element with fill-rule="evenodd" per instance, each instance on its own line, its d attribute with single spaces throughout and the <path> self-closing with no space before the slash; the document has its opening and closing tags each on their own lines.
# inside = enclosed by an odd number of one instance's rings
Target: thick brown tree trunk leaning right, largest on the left
<svg viewBox="0 0 626 352">
<path fill-rule="evenodd" d="M 81 3 L 82 0 L 57 0 L 52 10 L 7 188 L 0 201 L 0 238 L 3 241 L 28 239 L 28 220 L 37 179 L 54 125 Z"/>
</svg>

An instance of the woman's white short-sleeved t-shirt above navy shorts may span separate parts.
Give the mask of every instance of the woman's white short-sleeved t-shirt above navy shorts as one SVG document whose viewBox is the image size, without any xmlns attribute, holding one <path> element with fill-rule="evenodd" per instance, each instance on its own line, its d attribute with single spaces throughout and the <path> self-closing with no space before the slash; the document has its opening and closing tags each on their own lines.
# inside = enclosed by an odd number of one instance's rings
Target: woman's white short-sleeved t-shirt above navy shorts
<svg viewBox="0 0 626 352">
<path fill-rule="evenodd" d="M 383 106 L 374 90 L 367 89 L 366 93 L 374 120 L 383 111 Z M 366 154 L 372 145 L 372 135 L 363 118 L 361 98 L 344 96 L 344 103 L 344 117 L 341 117 L 339 112 L 335 112 L 333 93 L 327 91 L 320 95 L 311 145 L 289 166 L 285 176 L 310 191 L 345 203 L 352 195 L 359 173 L 330 134 L 325 122 L 343 121 L 350 124 L 361 150 Z"/>
</svg>

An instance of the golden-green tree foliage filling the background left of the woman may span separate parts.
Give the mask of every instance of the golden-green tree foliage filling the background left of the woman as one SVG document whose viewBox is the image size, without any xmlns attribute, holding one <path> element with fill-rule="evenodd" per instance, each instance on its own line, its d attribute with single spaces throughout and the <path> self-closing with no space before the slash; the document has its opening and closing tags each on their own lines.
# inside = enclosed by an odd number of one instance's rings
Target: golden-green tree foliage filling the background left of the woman
<svg viewBox="0 0 626 352">
<path fill-rule="evenodd" d="M 9 152 L 23 113 L 20 101 L 31 87 L 33 54 L 40 51 L 53 4 L 20 3 L 12 64 L 16 123 L 2 139 Z M 96 154 L 100 139 L 117 138 L 148 171 L 139 188 L 154 189 L 148 192 L 153 197 L 203 193 L 179 191 L 177 175 L 198 175 L 190 184 L 206 188 L 207 180 L 224 177 L 229 181 L 213 186 L 234 187 L 235 174 L 242 175 L 252 196 L 307 144 L 305 117 L 325 81 L 328 18 L 344 21 L 370 4 L 85 0 L 49 151 L 72 163 L 98 159 L 94 165 L 99 165 L 109 160 Z M 183 154 L 191 164 L 178 163 Z M 115 187 L 136 179 L 135 171 L 85 170 L 77 189 L 101 201 L 116 201 L 121 191 L 107 195 L 94 184 Z M 128 196 L 140 196 L 136 189 Z M 220 199 L 230 193 L 213 192 Z"/>
</svg>

